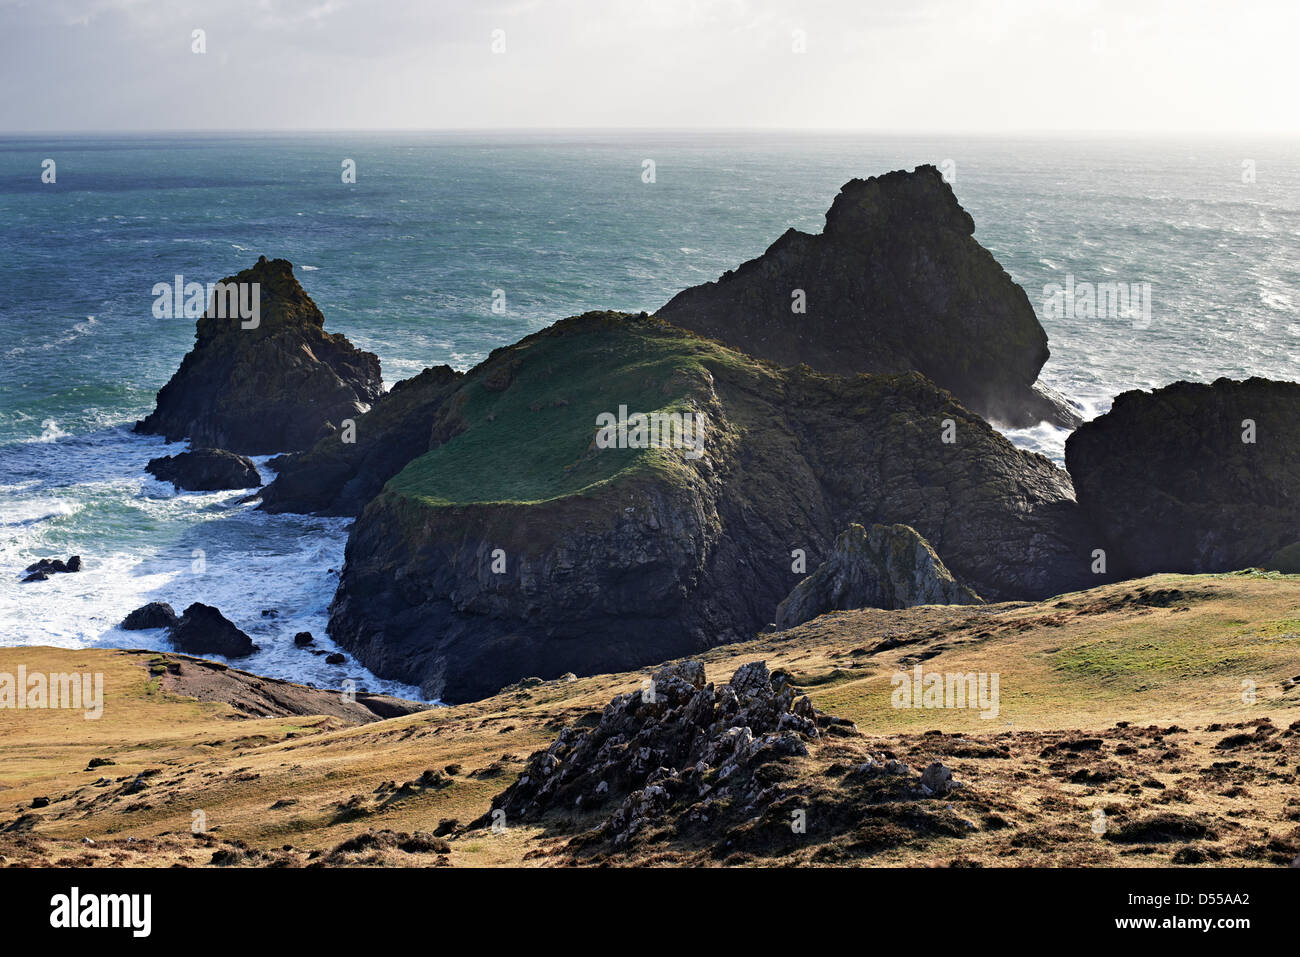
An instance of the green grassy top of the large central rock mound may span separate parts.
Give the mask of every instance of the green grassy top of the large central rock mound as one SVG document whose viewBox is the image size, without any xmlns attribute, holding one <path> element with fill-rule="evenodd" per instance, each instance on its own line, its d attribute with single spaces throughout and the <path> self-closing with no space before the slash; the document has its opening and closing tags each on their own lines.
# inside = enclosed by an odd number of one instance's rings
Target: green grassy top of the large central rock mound
<svg viewBox="0 0 1300 957">
<path fill-rule="evenodd" d="M 681 449 L 597 449 L 597 416 L 620 406 L 628 415 L 701 412 L 723 365 L 762 373 L 762 363 L 651 317 L 563 320 L 471 373 L 434 426 L 452 437 L 386 490 L 434 507 L 538 503 L 677 472 Z"/>
</svg>

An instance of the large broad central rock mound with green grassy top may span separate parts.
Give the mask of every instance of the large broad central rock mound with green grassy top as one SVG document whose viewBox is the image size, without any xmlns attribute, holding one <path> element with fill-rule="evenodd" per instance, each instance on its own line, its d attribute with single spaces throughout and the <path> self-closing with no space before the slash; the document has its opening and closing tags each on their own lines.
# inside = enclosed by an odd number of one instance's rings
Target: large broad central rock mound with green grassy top
<svg viewBox="0 0 1300 957">
<path fill-rule="evenodd" d="M 702 413 L 703 441 L 602 447 L 620 407 Z M 749 637 L 850 521 L 911 525 L 991 599 L 1096 584 L 1069 477 L 923 377 L 781 369 L 655 319 L 498 350 L 428 447 L 358 519 L 330 633 L 446 701 Z"/>
</svg>

